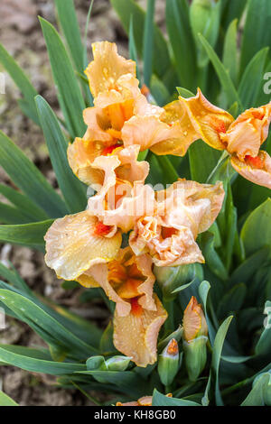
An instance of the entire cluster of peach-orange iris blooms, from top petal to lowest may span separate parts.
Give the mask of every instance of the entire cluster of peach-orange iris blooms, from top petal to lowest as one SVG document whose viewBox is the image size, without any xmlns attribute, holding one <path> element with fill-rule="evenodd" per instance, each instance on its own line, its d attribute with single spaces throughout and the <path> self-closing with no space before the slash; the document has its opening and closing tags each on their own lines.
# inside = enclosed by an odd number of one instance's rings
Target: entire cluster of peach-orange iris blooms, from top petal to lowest
<svg viewBox="0 0 271 424">
<path fill-rule="evenodd" d="M 61 279 L 105 290 L 116 302 L 115 346 L 146 366 L 156 361 L 157 336 L 167 318 L 154 293 L 153 266 L 204 263 L 196 239 L 220 213 L 224 190 L 221 182 L 177 180 L 155 191 L 145 184 L 149 164 L 138 154 L 149 149 L 183 156 L 202 138 L 227 149 L 248 180 L 271 187 L 271 160 L 259 151 L 271 105 L 250 109 L 236 121 L 200 90 L 196 97 L 154 106 L 138 87 L 135 62 L 119 56 L 115 44 L 95 43 L 93 56 L 86 74 L 94 106 L 83 112 L 88 128 L 70 144 L 68 160 L 97 193 L 86 210 L 52 224 L 45 261 Z"/>
</svg>

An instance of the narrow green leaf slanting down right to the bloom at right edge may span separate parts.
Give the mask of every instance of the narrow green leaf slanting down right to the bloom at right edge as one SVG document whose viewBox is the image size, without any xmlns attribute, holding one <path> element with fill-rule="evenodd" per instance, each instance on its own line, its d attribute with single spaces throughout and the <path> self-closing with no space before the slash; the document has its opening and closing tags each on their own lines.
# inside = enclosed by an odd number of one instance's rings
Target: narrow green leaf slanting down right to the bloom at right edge
<svg viewBox="0 0 271 424">
<path fill-rule="evenodd" d="M 200 41 L 201 41 L 204 49 L 206 50 L 206 52 L 207 52 L 207 54 L 210 58 L 210 61 L 213 65 L 214 69 L 216 70 L 218 77 L 220 78 L 220 84 L 225 91 L 225 94 L 228 98 L 229 105 L 232 105 L 234 102 L 237 101 L 238 105 L 241 108 L 243 108 L 243 106 L 241 105 L 240 99 L 238 97 L 238 92 L 237 92 L 236 88 L 234 87 L 234 84 L 233 84 L 231 78 L 229 77 L 229 71 L 224 67 L 223 63 L 220 61 L 219 56 L 212 49 L 209 42 L 207 40 L 205 40 L 205 38 L 201 35 L 201 33 L 199 33 L 198 36 L 200 38 Z"/>
</svg>

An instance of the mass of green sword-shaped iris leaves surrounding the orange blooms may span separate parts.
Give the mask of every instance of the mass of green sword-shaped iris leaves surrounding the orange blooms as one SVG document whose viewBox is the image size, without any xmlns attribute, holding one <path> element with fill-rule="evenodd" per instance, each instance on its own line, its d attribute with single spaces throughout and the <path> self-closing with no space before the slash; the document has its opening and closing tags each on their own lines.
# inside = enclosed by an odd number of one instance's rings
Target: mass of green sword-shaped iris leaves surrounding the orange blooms
<svg viewBox="0 0 271 424">
<path fill-rule="evenodd" d="M 12 182 L 0 184 L 0 241 L 42 252 L 43 237 L 53 219 L 81 211 L 87 203 L 86 187 L 70 171 L 67 160 L 68 144 L 85 132 L 82 109 L 91 104 L 83 77 L 85 42 L 73 1 L 55 0 L 55 5 L 64 42 L 51 23 L 42 18 L 40 22 L 63 121 L 0 45 L 0 62 L 22 93 L 22 111 L 42 129 L 59 188 L 58 192 L 53 189 L 33 162 L 0 132 L 0 165 Z M 150 88 L 159 106 L 175 99 L 178 92 L 191 97 L 197 87 L 235 116 L 268 101 L 262 91 L 264 75 L 271 70 L 269 0 L 193 0 L 192 5 L 187 0 L 167 0 L 169 41 L 154 23 L 154 0 L 148 2 L 146 12 L 134 0 L 111 0 L 111 5 L 129 36 L 131 58 L 143 60 L 140 83 Z M 91 6 L 89 16 L 90 10 Z M 269 153 L 270 145 L 269 139 L 263 146 Z M 153 395 L 154 406 L 270 406 L 270 190 L 242 180 L 229 158 L 202 141 L 193 143 L 184 158 L 142 152 L 140 159 L 151 164 L 147 182 L 165 185 L 178 177 L 201 183 L 222 180 L 226 191 L 220 217 L 198 239 L 206 263 L 163 271 L 154 268 L 155 290 L 170 312 L 159 336 L 158 354 L 173 337 L 179 342 L 180 362 L 174 364 L 173 381 L 164 376 L 161 381 L 157 364 L 143 369 L 118 355 L 111 322 L 101 330 L 41 299 L 12 264 L 4 263 L 0 263 L 1 308 L 31 327 L 48 348 L 1 345 L 1 364 L 57 375 L 67 390 L 75 386 L 81 392 L 110 392 L 122 401 Z M 63 283 L 65 290 L 76 287 L 74 281 Z M 201 301 L 209 327 L 207 361 L 204 356 L 203 369 L 197 373 L 188 373 L 182 361 L 185 347 L 180 326 L 192 296 Z M 85 290 L 79 300 L 94 298 L 104 300 L 102 290 Z M 112 311 L 112 302 L 107 301 L 107 307 Z M 191 376 L 196 381 L 189 380 Z M 165 396 L 169 391 L 173 398 Z M 0 392 L 0 405 L 15 402 Z"/>
</svg>

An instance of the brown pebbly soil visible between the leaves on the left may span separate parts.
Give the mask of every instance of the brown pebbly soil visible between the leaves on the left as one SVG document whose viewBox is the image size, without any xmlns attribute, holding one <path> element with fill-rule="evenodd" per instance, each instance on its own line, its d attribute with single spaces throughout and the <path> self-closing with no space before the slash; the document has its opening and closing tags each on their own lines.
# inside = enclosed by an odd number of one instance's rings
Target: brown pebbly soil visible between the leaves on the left
<svg viewBox="0 0 271 424">
<path fill-rule="evenodd" d="M 83 33 L 89 0 L 75 0 L 74 3 Z M 140 0 L 138 3 L 145 7 L 145 0 Z M 0 2 L 0 41 L 31 78 L 38 92 L 58 113 L 59 105 L 51 78 L 45 42 L 37 19 L 38 15 L 57 26 L 53 0 L 20 0 L 20 2 L 2 0 Z M 164 0 L 156 1 L 156 21 L 164 29 Z M 128 56 L 126 34 L 108 0 L 94 1 L 88 32 L 89 51 L 91 42 L 101 40 L 116 41 L 120 53 Z M 0 71 L 5 72 L 1 69 L 1 65 Z M 19 97 L 19 90 L 5 72 L 5 95 L 0 94 L 0 128 L 23 149 L 23 152 L 50 180 L 53 187 L 57 187 L 42 131 L 23 115 L 17 104 Z M 0 183 L 11 184 L 1 168 Z M 4 199 L 1 198 L 1 201 Z M 42 253 L 21 246 L 0 244 L 0 261 L 5 264 L 11 261 L 33 290 L 76 310 L 85 318 L 95 320 L 99 326 L 106 326 L 109 316 L 104 305 L 99 302 L 82 305 L 79 302 L 79 295 L 83 289 L 62 289 L 61 281 L 57 280 L 54 272 L 46 267 Z M 0 331 L 0 343 L 44 346 L 40 337 L 22 322 L 7 318 L 6 324 L 5 330 Z M 93 405 L 77 390 L 62 390 L 57 386 L 55 378 L 51 376 L 28 373 L 10 366 L 0 367 L 0 390 L 22 406 Z M 95 396 L 99 401 L 108 399 L 101 393 L 95 393 Z"/>
</svg>

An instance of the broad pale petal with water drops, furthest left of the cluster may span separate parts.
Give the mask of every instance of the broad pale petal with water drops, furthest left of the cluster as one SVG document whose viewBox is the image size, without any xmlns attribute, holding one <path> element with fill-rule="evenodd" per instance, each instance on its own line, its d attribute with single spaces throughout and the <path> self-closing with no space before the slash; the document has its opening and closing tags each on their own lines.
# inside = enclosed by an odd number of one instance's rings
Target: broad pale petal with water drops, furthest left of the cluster
<svg viewBox="0 0 271 424">
<path fill-rule="evenodd" d="M 114 227 L 98 235 L 98 218 L 89 211 L 56 219 L 47 231 L 45 262 L 59 278 L 76 280 L 97 263 L 112 261 L 122 237 Z"/>
</svg>

